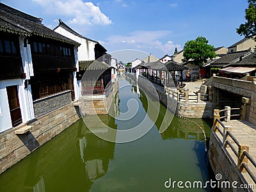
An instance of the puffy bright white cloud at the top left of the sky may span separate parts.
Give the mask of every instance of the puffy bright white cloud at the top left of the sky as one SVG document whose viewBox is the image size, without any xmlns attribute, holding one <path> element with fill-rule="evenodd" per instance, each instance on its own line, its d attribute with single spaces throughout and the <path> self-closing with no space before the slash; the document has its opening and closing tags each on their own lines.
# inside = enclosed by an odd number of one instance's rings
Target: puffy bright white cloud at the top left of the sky
<svg viewBox="0 0 256 192">
<path fill-rule="evenodd" d="M 82 0 L 33 0 L 45 8 L 48 15 L 64 15 L 68 23 L 108 25 L 112 21 L 100 11 L 99 6 Z"/>
</svg>

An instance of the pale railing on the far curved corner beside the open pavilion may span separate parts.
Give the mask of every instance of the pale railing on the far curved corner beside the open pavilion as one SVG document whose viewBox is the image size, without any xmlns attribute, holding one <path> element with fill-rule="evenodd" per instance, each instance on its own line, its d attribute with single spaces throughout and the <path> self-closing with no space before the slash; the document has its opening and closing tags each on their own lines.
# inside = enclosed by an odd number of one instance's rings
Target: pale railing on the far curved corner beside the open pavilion
<svg viewBox="0 0 256 192">
<path fill-rule="evenodd" d="M 209 100 L 209 95 L 201 94 L 197 92 L 195 94 L 189 94 L 189 90 L 178 88 L 177 90 L 171 90 L 170 88 L 165 88 L 166 95 L 172 97 L 177 101 L 183 102 L 202 102 Z"/>
</svg>

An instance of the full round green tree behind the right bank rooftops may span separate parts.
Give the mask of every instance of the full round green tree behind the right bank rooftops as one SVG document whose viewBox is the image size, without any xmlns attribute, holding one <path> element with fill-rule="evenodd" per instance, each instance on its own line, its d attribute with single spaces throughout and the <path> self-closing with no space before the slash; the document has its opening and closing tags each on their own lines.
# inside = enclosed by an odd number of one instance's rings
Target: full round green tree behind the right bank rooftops
<svg viewBox="0 0 256 192">
<path fill-rule="evenodd" d="M 191 61 L 195 65 L 201 67 L 208 59 L 217 56 L 214 52 L 214 46 L 208 44 L 208 40 L 204 36 L 198 36 L 196 40 L 186 42 L 183 52 L 183 62 Z"/>
</svg>

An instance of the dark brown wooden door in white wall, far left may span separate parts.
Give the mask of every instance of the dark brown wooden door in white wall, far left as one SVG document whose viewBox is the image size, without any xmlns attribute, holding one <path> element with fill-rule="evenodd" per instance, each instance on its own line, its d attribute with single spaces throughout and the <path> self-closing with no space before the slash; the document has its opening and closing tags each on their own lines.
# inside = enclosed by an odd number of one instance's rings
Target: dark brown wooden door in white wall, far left
<svg viewBox="0 0 256 192">
<path fill-rule="evenodd" d="M 22 123 L 18 89 L 17 86 L 7 86 L 6 90 L 12 118 L 12 126 L 15 127 Z"/>
</svg>

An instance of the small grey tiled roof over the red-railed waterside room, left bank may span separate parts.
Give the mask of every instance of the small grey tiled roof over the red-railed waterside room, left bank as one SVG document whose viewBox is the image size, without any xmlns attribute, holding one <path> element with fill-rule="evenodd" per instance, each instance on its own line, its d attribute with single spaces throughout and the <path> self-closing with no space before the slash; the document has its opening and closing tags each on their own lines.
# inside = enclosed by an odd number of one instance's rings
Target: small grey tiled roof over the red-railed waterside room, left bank
<svg viewBox="0 0 256 192">
<path fill-rule="evenodd" d="M 92 61 L 79 61 L 79 70 L 106 70 L 108 68 L 113 68 L 106 63 L 102 63 L 97 60 Z"/>
</svg>

